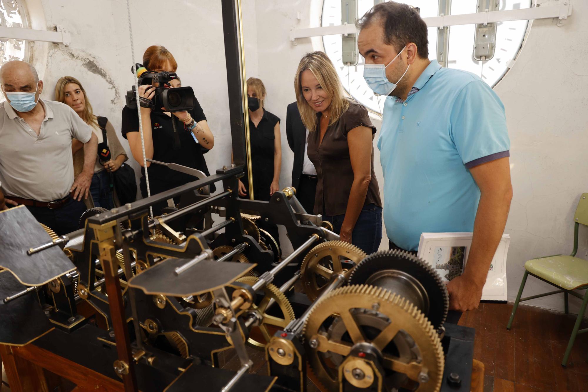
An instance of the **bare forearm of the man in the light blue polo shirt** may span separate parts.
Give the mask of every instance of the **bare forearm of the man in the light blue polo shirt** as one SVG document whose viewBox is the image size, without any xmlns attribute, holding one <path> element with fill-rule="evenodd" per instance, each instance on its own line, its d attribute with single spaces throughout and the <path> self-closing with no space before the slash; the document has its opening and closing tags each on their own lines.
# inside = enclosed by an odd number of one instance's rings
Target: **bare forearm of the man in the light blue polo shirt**
<svg viewBox="0 0 588 392">
<path fill-rule="evenodd" d="M 486 283 L 486 277 L 496 248 L 505 231 L 512 190 L 482 195 L 478 204 L 472 247 L 463 275 L 476 285 Z"/>
</svg>

